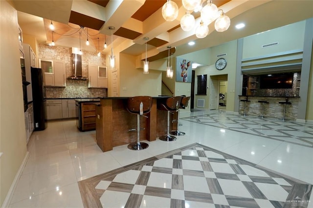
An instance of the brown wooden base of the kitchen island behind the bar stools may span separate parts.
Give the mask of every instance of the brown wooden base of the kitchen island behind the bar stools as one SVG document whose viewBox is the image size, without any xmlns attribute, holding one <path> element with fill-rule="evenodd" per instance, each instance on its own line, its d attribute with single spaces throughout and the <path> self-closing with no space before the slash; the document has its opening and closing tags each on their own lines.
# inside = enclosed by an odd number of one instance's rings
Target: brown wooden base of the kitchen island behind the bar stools
<svg viewBox="0 0 313 208">
<path fill-rule="evenodd" d="M 96 140 L 103 152 L 137 140 L 136 131 L 129 131 L 136 128 L 137 117 L 127 110 L 128 98 L 130 97 L 100 98 L 100 104 L 96 107 Z M 157 104 L 167 98 L 169 97 L 153 97 L 151 111 L 145 114 L 148 118 L 140 117 L 140 140 L 152 142 L 156 137 L 166 134 L 167 112 L 158 110 Z M 174 113 L 172 119 L 176 118 L 177 113 Z M 177 130 L 177 125 L 176 122 L 172 123 L 171 130 Z"/>
</svg>

